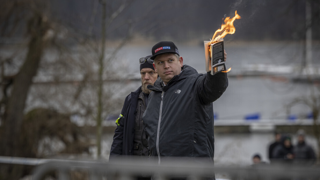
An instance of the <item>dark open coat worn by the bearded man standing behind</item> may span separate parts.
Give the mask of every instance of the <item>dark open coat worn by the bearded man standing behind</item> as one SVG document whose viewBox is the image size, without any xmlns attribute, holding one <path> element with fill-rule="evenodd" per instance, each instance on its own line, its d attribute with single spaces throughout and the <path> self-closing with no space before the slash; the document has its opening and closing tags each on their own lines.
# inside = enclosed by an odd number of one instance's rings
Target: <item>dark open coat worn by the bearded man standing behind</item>
<svg viewBox="0 0 320 180">
<path fill-rule="evenodd" d="M 131 92 L 124 100 L 121 111 L 123 117 L 119 119 L 120 125 L 115 130 L 110 157 L 114 155 L 133 155 L 134 123 L 140 91 L 141 86 Z"/>
</svg>

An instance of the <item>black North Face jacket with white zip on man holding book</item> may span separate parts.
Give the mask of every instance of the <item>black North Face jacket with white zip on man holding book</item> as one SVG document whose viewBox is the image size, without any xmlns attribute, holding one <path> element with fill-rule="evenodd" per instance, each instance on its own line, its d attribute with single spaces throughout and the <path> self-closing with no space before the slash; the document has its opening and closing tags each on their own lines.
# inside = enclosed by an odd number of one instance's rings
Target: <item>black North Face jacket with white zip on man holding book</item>
<svg viewBox="0 0 320 180">
<path fill-rule="evenodd" d="M 185 65 L 167 86 L 159 77 L 142 116 L 151 156 L 214 155 L 213 106 L 228 86 L 227 73 L 198 74 Z"/>
</svg>

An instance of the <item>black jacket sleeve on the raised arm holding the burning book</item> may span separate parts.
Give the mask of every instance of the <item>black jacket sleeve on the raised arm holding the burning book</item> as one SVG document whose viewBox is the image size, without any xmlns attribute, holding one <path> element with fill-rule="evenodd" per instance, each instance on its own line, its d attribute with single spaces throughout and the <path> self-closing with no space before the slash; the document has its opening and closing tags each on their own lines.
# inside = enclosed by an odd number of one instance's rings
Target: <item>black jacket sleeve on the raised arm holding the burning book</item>
<svg viewBox="0 0 320 180">
<path fill-rule="evenodd" d="M 217 73 L 214 75 L 207 72 L 198 82 L 199 98 L 203 104 L 211 103 L 223 94 L 228 87 L 227 73 Z"/>
</svg>

